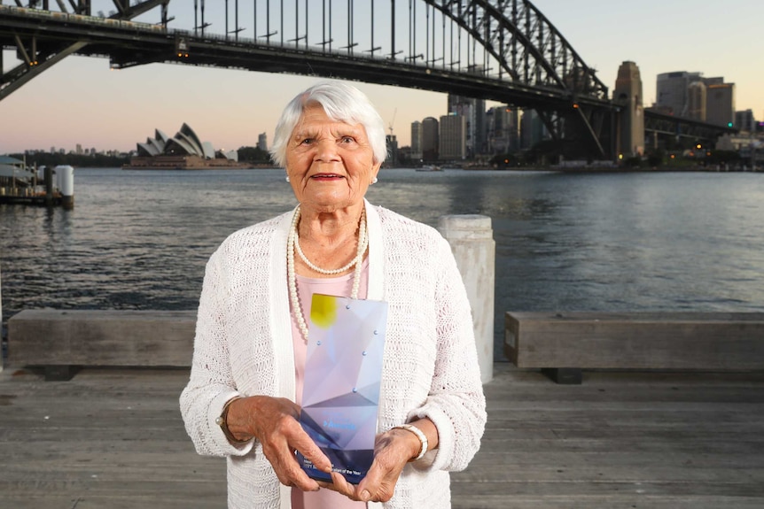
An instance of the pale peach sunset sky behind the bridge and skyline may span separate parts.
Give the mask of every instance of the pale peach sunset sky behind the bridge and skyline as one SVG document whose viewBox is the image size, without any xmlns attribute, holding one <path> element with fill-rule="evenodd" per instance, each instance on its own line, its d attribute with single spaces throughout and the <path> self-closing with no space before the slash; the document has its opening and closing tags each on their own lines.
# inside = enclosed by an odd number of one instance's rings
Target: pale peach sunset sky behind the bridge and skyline
<svg viewBox="0 0 764 509">
<path fill-rule="evenodd" d="M 240 0 L 246 4 L 247 0 Z M 207 19 L 222 12 L 207 0 Z M 233 2 L 231 2 L 233 4 Z M 345 4 L 340 2 L 337 4 Z M 355 4 L 359 4 L 356 2 Z M 534 0 L 550 22 L 609 89 L 618 67 L 640 68 L 644 104 L 655 101 L 659 73 L 700 72 L 736 84 L 737 111 L 764 120 L 764 0 Z M 113 9 L 94 0 L 94 12 Z M 99 6 L 100 5 L 100 6 Z M 617 5 L 617 7 L 616 7 Z M 175 28 L 193 26 L 191 0 L 171 2 Z M 188 16 L 191 19 L 188 19 Z M 217 19 L 210 31 L 222 34 Z M 4 70 L 16 66 L 4 53 Z M 217 68 L 152 64 L 110 71 L 106 58 L 69 57 L 0 101 L 0 154 L 25 149 L 133 150 L 160 128 L 174 135 L 188 123 L 216 149 L 269 142 L 286 102 L 315 78 Z M 409 144 L 410 124 L 446 113 L 446 96 L 357 83 L 386 124 L 394 120 L 399 145 Z"/>
</svg>

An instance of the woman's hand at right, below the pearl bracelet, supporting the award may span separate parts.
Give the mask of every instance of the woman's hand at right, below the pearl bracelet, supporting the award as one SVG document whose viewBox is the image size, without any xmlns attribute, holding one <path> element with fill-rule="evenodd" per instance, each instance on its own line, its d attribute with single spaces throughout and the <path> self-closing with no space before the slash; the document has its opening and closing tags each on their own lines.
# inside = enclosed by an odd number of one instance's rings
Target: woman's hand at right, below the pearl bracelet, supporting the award
<svg viewBox="0 0 764 509">
<path fill-rule="evenodd" d="M 353 500 L 387 502 L 393 497 L 395 483 L 409 459 L 416 458 L 421 447 L 417 436 L 405 429 L 393 428 L 377 436 L 374 461 L 368 474 L 357 485 L 342 474 L 331 473 L 333 482 L 319 482 L 322 488 L 335 490 Z"/>
</svg>

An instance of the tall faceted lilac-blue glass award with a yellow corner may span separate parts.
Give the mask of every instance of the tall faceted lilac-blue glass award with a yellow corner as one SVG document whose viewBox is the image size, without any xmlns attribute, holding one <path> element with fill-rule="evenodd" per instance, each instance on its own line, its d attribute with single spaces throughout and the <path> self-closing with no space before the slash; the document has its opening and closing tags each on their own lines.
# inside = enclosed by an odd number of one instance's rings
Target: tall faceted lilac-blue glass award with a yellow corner
<svg viewBox="0 0 764 509">
<path fill-rule="evenodd" d="M 310 306 L 300 424 L 332 470 L 355 484 L 374 459 L 386 322 L 386 302 L 314 294 Z M 297 458 L 310 477 L 331 482 Z"/>
</svg>

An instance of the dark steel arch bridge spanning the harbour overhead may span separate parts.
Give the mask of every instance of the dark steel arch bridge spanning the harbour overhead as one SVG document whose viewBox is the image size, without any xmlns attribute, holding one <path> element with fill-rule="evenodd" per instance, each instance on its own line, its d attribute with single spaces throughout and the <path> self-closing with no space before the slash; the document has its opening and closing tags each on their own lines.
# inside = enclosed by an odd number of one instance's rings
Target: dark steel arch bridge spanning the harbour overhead
<svg viewBox="0 0 764 509">
<path fill-rule="evenodd" d="M 0 0 L 0 101 L 70 55 L 366 81 L 534 109 L 561 153 L 617 158 L 628 103 L 527 0 Z M 644 112 L 650 135 L 731 129 Z"/>
</svg>

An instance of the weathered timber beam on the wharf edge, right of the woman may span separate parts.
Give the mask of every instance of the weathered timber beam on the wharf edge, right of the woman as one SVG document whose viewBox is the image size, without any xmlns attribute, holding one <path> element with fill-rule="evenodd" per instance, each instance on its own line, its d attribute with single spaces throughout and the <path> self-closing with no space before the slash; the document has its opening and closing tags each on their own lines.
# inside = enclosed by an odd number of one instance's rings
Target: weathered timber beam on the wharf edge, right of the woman
<svg viewBox="0 0 764 509">
<path fill-rule="evenodd" d="M 764 312 L 507 312 L 504 351 L 557 383 L 581 369 L 764 369 Z"/>
</svg>

